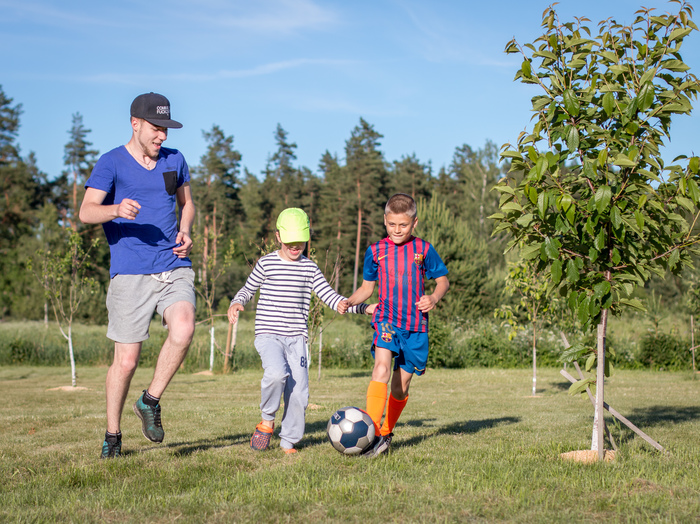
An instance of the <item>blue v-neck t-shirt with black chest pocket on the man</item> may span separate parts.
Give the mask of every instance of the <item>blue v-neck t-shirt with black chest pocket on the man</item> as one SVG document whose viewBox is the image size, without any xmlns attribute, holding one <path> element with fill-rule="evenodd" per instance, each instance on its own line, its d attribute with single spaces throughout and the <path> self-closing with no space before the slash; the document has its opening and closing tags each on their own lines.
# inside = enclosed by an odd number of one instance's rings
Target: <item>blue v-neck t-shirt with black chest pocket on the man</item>
<svg viewBox="0 0 700 524">
<path fill-rule="evenodd" d="M 160 148 L 155 169 L 149 171 L 119 146 L 100 157 L 85 187 L 105 191 L 103 204 L 136 200 L 141 209 L 135 220 L 115 218 L 102 224 L 115 275 L 150 275 L 190 267 L 189 258 L 173 253 L 178 233 L 176 192 L 190 180 L 187 162 L 175 149 Z"/>
</svg>

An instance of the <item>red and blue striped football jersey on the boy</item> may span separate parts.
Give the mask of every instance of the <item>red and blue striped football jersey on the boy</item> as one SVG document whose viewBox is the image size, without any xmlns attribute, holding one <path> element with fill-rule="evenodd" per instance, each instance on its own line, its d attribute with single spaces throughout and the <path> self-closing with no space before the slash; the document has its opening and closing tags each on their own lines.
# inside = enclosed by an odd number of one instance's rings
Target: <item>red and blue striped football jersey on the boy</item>
<svg viewBox="0 0 700 524">
<path fill-rule="evenodd" d="M 428 331 L 428 314 L 416 302 L 425 294 L 425 279 L 447 275 L 447 267 L 435 248 L 412 237 L 397 246 L 388 237 L 369 246 L 363 278 L 377 282 L 379 305 L 372 323 L 388 322 L 407 331 Z"/>
</svg>

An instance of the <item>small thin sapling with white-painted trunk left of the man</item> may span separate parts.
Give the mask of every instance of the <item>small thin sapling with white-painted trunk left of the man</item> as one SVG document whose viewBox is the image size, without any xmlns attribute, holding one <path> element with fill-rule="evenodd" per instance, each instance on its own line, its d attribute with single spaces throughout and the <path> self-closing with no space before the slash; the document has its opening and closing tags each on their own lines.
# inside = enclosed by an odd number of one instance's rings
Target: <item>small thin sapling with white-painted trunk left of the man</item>
<svg viewBox="0 0 700 524">
<path fill-rule="evenodd" d="M 90 250 L 98 241 L 93 241 L 86 250 L 80 235 L 69 231 L 62 248 L 37 252 L 28 260 L 28 266 L 44 288 L 46 298 L 51 302 L 58 329 L 68 342 L 71 383 L 75 387 L 77 375 L 73 351 L 73 320 L 81 302 L 95 286 L 95 281 L 85 276 L 85 270 L 90 261 Z"/>
</svg>

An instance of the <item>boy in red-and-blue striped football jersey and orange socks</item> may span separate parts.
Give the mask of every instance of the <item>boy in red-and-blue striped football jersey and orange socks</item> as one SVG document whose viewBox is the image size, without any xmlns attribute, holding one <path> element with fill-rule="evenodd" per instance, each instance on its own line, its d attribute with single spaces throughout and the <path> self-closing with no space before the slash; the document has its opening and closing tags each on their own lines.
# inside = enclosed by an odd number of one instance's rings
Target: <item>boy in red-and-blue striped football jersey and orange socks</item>
<svg viewBox="0 0 700 524">
<path fill-rule="evenodd" d="M 348 299 L 350 306 L 360 304 L 372 296 L 378 284 L 379 304 L 372 316 L 374 369 L 366 410 L 377 436 L 365 452 L 369 457 L 389 451 L 394 426 L 408 400 L 411 379 L 425 373 L 427 367 L 428 312 L 450 287 L 447 268 L 433 246 L 413 236 L 416 215 L 416 203 L 409 195 L 397 193 L 389 199 L 384 208 L 387 237 L 367 249 L 362 286 Z M 426 278 L 436 282 L 430 295 L 425 294 Z M 380 427 L 385 405 L 386 416 Z"/>
</svg>

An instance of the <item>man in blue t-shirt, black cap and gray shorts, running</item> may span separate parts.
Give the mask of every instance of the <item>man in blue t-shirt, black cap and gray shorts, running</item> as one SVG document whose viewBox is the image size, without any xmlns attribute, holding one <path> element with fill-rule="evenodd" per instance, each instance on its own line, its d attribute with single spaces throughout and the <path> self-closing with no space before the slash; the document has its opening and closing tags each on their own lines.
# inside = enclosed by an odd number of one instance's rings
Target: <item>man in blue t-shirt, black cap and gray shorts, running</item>
<svg viewBox="0 0 700 524">
<path fill-rule="evenodd" d="M 114 361 L 107 371 L 102 458 L 121 454 L 121 415 L 153 312 L 162 316 L 168 338 L 151 384 L 134 404 L 152 442 L 163 441 L 160 397 L 194 335 L 194 272 L 187 258 L 194 222 L 190 173 L 179 151 L 162 147 L 168 129 L 181 127 L 163 95 L 137 96 L 131 140 L 102 155 L 85 183 L 80 220 L 102 224 L 111 255 L 107 337 L 114 340 Z"/>
</svg>

